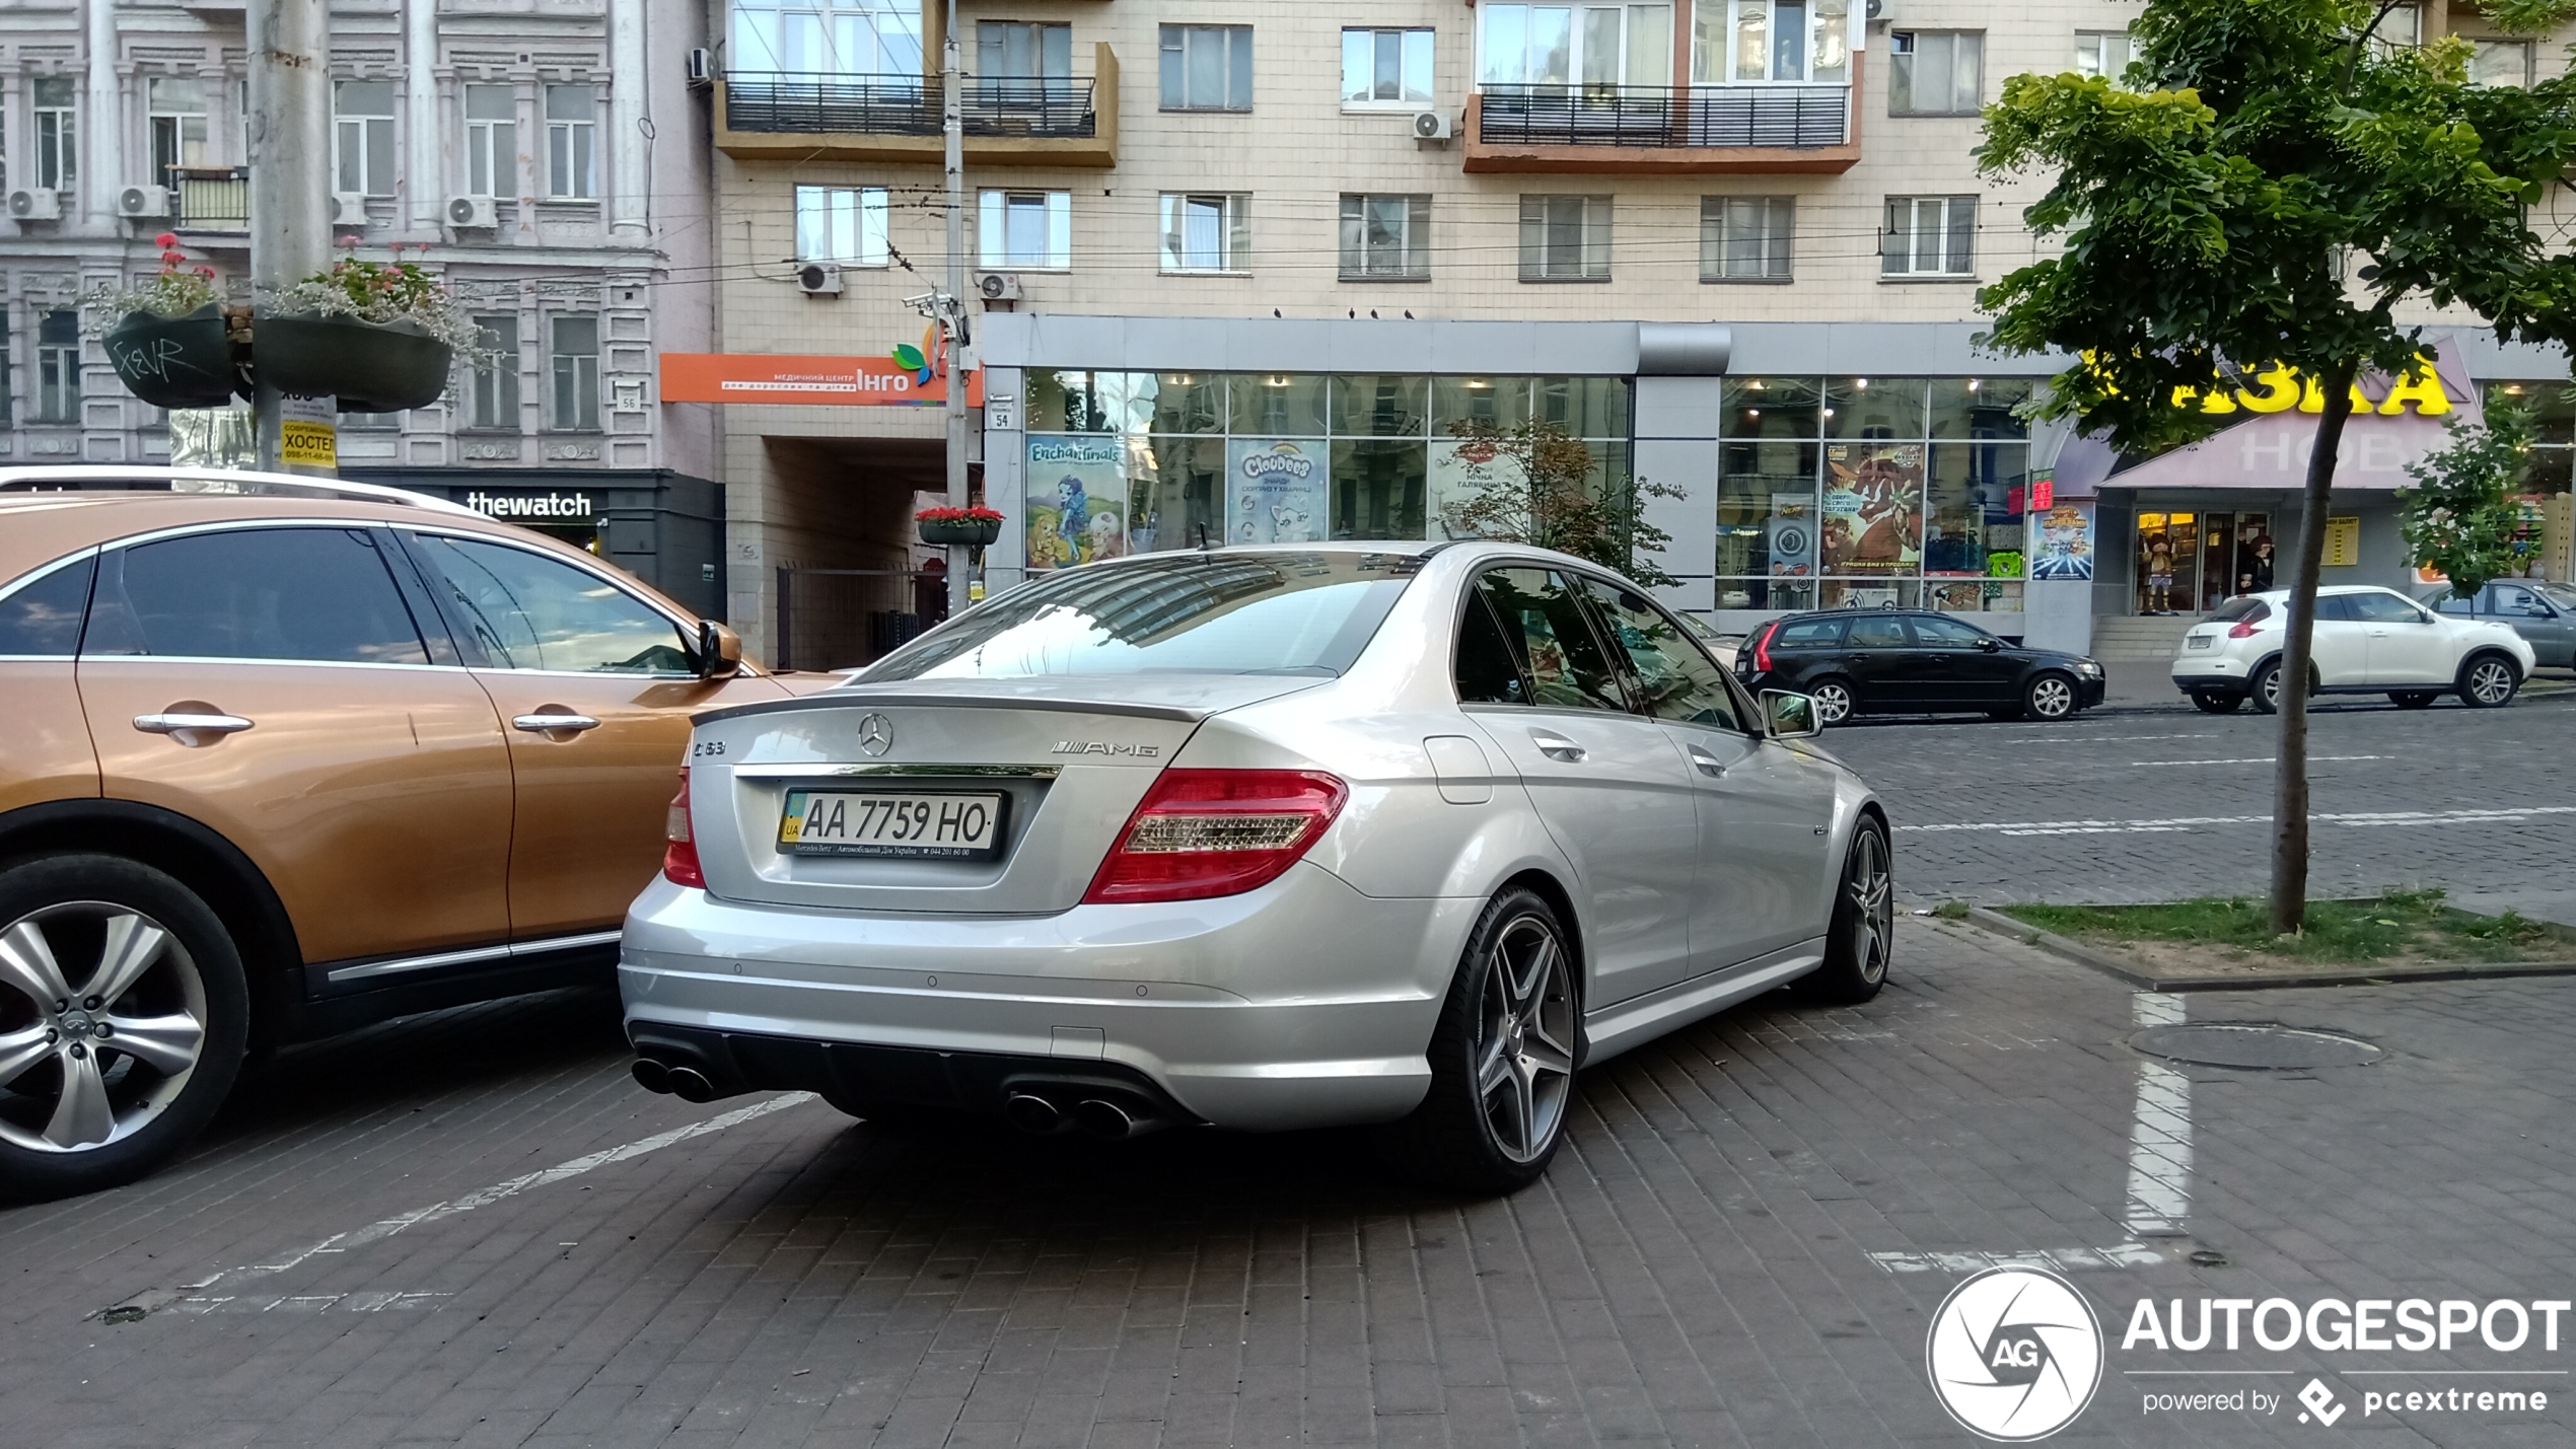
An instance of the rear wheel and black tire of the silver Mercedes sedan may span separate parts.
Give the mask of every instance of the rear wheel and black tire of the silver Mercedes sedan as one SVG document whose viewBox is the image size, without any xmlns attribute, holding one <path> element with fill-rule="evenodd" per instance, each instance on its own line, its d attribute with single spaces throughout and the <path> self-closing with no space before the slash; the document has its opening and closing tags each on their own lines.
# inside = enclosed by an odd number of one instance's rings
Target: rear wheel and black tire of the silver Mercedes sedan
<svg viewBox="0 0 2576 1449">
<path fill-rule="evenodd" d="M 1388 1161 L 1479 1197 L 1538 1181 L 1566 1135 L 1582 1022 L 1556 909 L 1535 891 L 1494 896 L 1432 1029 L 1432 1089 L 1386 1127 Z"/>
</svg>

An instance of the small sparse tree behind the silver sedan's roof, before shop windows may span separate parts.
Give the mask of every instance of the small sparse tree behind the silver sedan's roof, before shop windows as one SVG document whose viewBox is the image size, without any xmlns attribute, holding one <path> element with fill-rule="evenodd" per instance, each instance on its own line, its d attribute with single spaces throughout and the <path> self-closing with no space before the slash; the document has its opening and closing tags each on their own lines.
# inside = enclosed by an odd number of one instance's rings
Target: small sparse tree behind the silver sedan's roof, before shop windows
<svg viewBox="0 0 2576 1449">
<path fill-rule="evenodd" d="M 1682 497 L 1672 484 L 1610 474 L 1592 481 L 1592 448 L 1556 422 L 1502 427 L 1481 417 L 1450 425 L 1473 492 L 1440 510 L 1450 533 L 1502 538 L 1574 553 L 1628 574 L 1646 587 L 1672 587 L 1672 574 L 1646 558 L 1672 535 L 1646 522 L 1643 499 Z"/>
</svg>

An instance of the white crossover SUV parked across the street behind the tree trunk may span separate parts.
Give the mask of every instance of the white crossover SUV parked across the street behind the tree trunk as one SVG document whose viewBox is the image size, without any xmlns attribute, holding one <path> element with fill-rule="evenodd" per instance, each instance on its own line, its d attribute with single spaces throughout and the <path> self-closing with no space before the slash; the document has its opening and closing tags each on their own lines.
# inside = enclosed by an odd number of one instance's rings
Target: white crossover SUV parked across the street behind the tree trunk
<svg viewBox="0 0 2576 1449">
<path fill-rule="evenodd" d="M 2218 605 L 2182 636 L 2174 685 L 2213 715 L 2246 700 L 2272 713 L 2287 625 L 2290 589 Z M 2311 695 L 2388 695 L 2406 710 L 2442 695 L 2481 710 L 2509 705 L 2532 672 L 2532 646 L 2504 623 L 2447 618 L 2396 589 L 2318 589 L 2313 638 Z"/>
</svg>

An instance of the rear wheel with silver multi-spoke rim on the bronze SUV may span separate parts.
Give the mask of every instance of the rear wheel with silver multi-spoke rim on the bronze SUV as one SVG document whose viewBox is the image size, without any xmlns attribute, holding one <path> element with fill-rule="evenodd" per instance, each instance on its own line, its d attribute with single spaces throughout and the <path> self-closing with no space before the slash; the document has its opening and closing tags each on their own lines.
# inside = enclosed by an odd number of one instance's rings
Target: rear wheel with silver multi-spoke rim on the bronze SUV
<svg viewBox="0 0 2576 1449">
<path fill-rule="evenodd" d="M 0 1194 L 100 1192 L 170 1161 L 242 1068 L 250 991 L 224 924 L 149 865 L 54 854 L 0 867 L 0 939 L 21 947 L 0 957 L 0 1037 L 41 1032 L 0 1084 Z"/>
</svg>

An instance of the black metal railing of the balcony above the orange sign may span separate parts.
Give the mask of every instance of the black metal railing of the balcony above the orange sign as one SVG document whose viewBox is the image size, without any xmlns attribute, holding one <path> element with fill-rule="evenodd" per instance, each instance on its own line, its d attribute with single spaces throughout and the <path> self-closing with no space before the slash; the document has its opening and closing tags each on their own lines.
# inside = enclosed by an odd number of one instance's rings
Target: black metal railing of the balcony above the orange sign
<svg viewBox="0 0 2576 1449">
<path fill-rule="evenodd" d="M 724 124 L 762 134 L 938 136 L 940 77 L 729 75 Z M 958 95 L 969 136 L 1092 136 L 1092 80 L 969 80 Z"/>
</svg>

